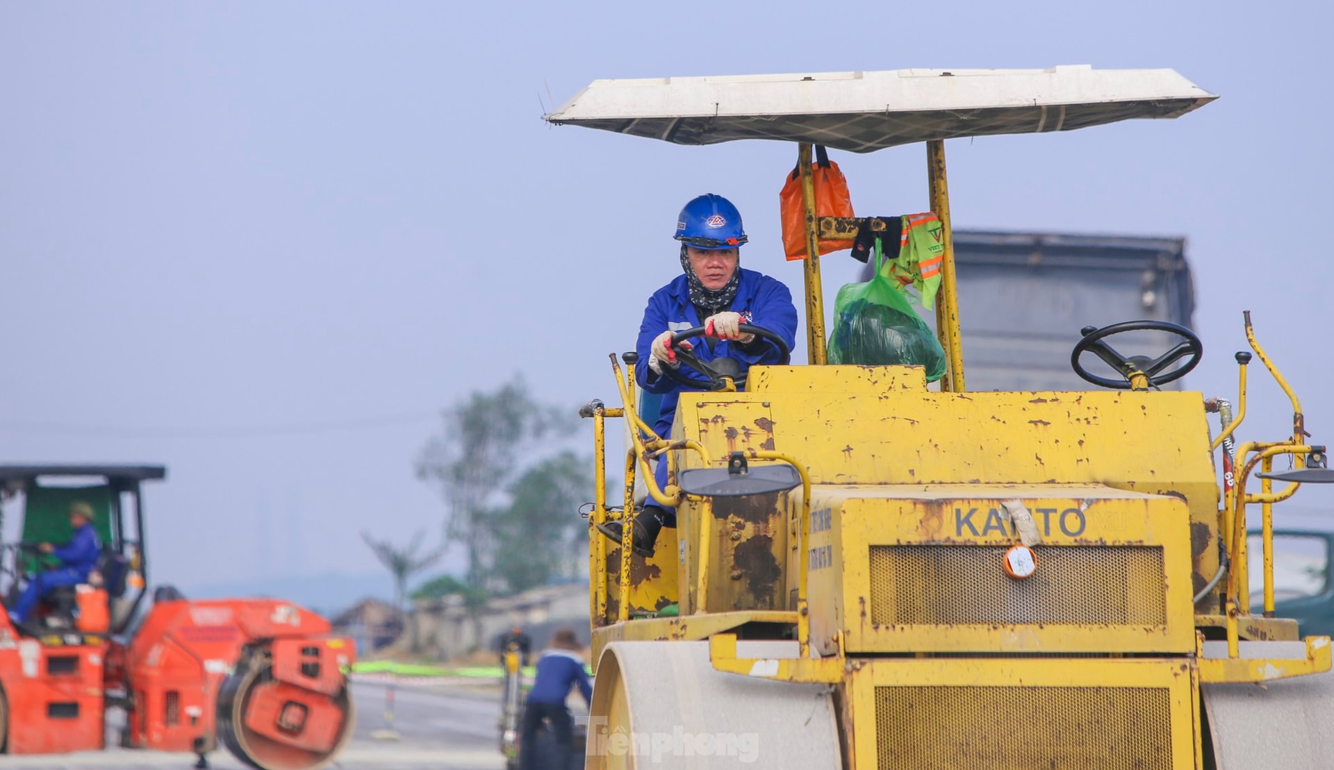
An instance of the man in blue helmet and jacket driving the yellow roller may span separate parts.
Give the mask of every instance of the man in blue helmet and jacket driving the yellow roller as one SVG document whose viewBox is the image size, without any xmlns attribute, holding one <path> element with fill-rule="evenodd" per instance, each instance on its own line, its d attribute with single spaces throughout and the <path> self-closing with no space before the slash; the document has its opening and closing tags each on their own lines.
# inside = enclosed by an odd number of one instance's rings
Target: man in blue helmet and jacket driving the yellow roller
<svg viewBox="0 0 1334 770">
<path fill-rule="evenodd" d="M 680 241 L 683 276 L 654 292 L 644 309 L 635 350 L 635 377 L 648 393 L 662 393 L 662 410 L 654 425 L 659 437 L 671 436 L 676 401 L 686 388 L 663 376 L 663 368 L 676 369 L 680 364 L 671 350 L 676 332 L 704 326 L 707 336 L 682 342 L 700 361 L 732 358 L 742 372 L 756 364 L 778 364 L 782 352 L 767 340 L 743 334 L 742 324 L 750 324 L 778 334 L 791 348 L 796 340 L 796 308 L 792 293 L 776 278 L 740 266 L 740 246 L 748 240 L 742 226 L 742 214 L 727 198 L 702 194 L 686 204 L 676 218 L 675 240 Z M 703 381 L 702 381 L 703 385 Z M 667 464 L 659 461 L 654 478 L 659 488 L 667 485 Z M 652 556 L 654 542 L 663 526 L 676 526 L 675 510 L 652 502 L 634 520 L 634 550 Z M 598 528 L 607 537 L 620 541 L 622 522 L 612 521 Z"/>
</svg>

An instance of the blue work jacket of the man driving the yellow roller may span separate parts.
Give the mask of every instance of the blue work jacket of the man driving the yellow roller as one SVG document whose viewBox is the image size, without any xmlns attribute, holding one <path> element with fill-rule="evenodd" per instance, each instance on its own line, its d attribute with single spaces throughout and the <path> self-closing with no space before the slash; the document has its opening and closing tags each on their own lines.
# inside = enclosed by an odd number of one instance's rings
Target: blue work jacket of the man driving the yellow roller
<svg viewBox="0 0 1334 770">
<path fill-rule="evenodd" d="M 776 278 L 771 278 L 755 270 L 739 268 L 742 277 L 736 286 L 736 298 L 728 310 L 734 313 L 750 313 L 751 325 L 768 329 L 787 342 L 788 349 L 796 342 L 796 308 L 792 305 L 792 293 Z M 662 410 L 654 430 L 659 437 L 667 438 L 671 434 L 671 422 L 676 414 L 678 394 L 682 390 L 700 390 L 698 388 L 683 388 L 648 369 L 648 354 L 654 338 L 667 329 L 684 332 L 694 326 L 703 326 L 704 320 L 695 312 L 695 305 L 690 301 L 690 280 L 682 273 L 676 280 L 648 297 L 648 306 L 644 308 L 644 322 L 639 325 L 639 342 L 635 352 L 639 361 L 635 364 L 635 378 L 648 393 L 663 393 Z M 690 341 L 695 346 L 694 353 L 700 361 L 714 358 L 735 358 L 742 365 L 742 370 L 750 369 L 755 364 L 778 364 L 778 349 L 772 344 L 762 342 L 755 352 L 743 350 L 736 342 L 728 340 L 714 340 L 714 349 L 708 349 L 708 342 L 699 337 Z M 699 380 L 686 366 L 687 376 Z M 647 421 L 647 420 L 646 420 Z"/>
</svg>

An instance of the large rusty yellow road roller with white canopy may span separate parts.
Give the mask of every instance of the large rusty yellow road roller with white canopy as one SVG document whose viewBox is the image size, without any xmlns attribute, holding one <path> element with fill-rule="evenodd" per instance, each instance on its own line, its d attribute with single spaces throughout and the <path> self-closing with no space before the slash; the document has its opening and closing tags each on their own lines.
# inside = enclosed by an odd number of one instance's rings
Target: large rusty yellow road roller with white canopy
<svg viewBox="0 0 1334 770">
<path fill-rule="evenodd" d="M 1273 505 L 1331 472 L 1249 314 L 1235 408 L 1159 389 L 1203 353 L 1162 321 L 1081 329 L 1089 390 L 964 386 L 944 140 L 1214 99 L 1171 69 L 910 69 L 598 80 L 547 116 L 684 145 L 794 143 L 806 241 L 807 365 L 702 362 L 687 344 L 708 329 L 680 329 L 670 345 L 695 385 L 670 434 L 616 356 L 620 404 L 582 410 L 598 464 L 587 767 L 1334 767 L 1330 639 L 1275 617 L 1270 537 Z M 822 210 L 818 148 L 915 143 L 944 370 L 831 365 L 819 254 L 878 233 L 898 245 L 907 224 Z M 1105 374 L 1087 368 L 1099 360 Z M 1255 360 L 1291 398 L 1293 432 L 1238 442 Z M 612 497 L 608 418 L 628 429 Z M 627 526 L 646 502 L 676 512 L 648 557 Z M 615 522 L 619 542 L 599 534 Z"/>
</svg>

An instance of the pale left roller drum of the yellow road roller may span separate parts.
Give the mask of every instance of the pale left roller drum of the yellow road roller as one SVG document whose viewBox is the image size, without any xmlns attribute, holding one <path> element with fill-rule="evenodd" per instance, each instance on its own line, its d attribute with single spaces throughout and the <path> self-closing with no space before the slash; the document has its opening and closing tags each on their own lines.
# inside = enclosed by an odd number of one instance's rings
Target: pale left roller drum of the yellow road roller
<svg viewBox="0 0 1334 770">
<path fill-rule="evenodd" d="M 842 770 L 838 711 L 828 686 L 715 670 L 708 642 L 612 642 L 598 662 L 586 766 Z"/>
</svg>

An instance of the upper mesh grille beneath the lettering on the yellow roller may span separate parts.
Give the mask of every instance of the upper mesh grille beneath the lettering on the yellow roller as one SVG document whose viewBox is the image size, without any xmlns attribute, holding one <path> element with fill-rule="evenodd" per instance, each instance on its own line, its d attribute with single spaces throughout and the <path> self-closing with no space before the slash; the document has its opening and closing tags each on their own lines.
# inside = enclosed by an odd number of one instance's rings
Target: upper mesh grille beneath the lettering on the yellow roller
<svg viewBox="0 0 1334 770">
<path fill-rule="evenodd" d="M 1038 572 L 1011 579 L 1005 546 L 871 546 L 871 622 L 1167 622 L 1159 546 L 1038 546 Z"/>
</svg>

